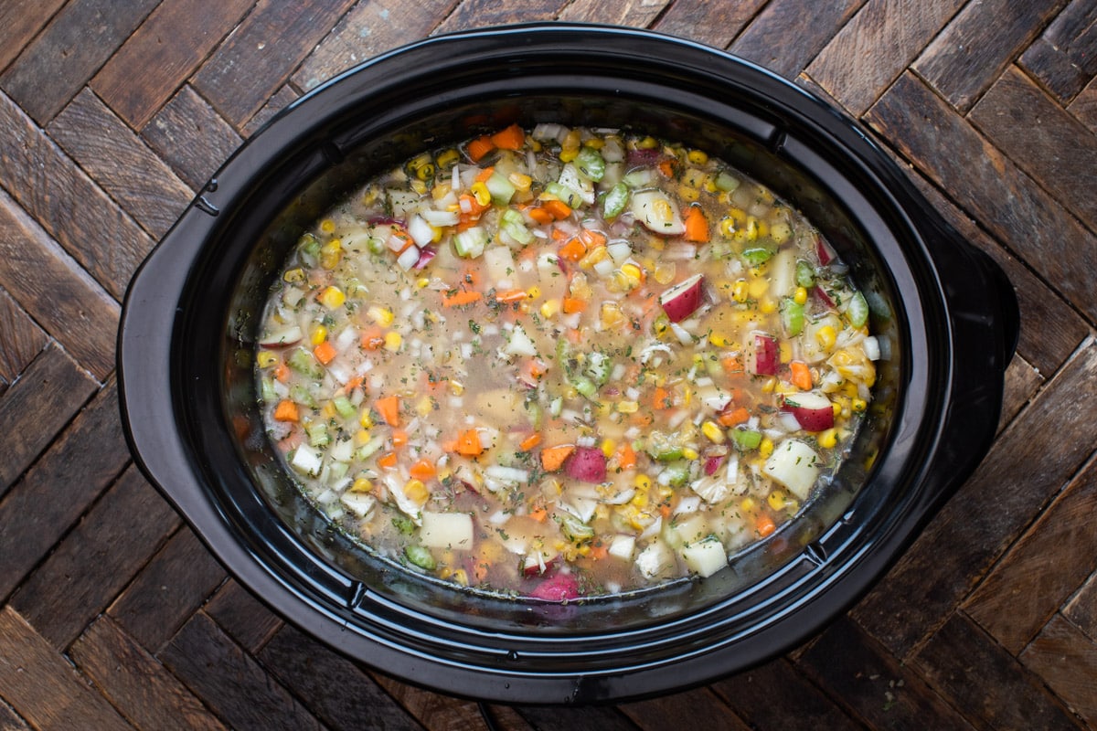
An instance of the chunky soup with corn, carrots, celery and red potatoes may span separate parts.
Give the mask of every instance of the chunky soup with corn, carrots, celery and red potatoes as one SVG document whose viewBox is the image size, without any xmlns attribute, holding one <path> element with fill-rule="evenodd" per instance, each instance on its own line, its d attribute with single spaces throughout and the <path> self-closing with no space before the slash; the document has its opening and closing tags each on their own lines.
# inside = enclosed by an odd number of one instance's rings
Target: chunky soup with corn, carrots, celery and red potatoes
<svg viewBox="0 0 1097 731">
<path fill-rule="evenodd" d="M 810 221 L 704 151 L 511 126 L 321 217 L 257 377 L 348 535 L 570 601 L 712 575 L 802 511 L 871 400 L 868 321 Z"/>
</svg>

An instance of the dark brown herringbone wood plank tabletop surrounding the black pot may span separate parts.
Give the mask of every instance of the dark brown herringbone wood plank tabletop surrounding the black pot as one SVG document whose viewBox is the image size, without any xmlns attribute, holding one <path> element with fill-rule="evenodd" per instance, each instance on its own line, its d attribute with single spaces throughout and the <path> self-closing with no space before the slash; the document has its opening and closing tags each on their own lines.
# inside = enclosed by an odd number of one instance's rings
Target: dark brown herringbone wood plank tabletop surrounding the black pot
<svg viewBox="0 0 1097 731">
<path fill-rule="evenodd" d="M 423 36 L 651 26 L 829 96 L 1008 272 L 998 438 L 879 586 L 744 675 L 504 729 L 1097 728 L 1097 1 L 4 0 L 0 728 L 475 729 L 283 624 L 133 466 L 120 300 L 224 158 Z"/>
</svg>

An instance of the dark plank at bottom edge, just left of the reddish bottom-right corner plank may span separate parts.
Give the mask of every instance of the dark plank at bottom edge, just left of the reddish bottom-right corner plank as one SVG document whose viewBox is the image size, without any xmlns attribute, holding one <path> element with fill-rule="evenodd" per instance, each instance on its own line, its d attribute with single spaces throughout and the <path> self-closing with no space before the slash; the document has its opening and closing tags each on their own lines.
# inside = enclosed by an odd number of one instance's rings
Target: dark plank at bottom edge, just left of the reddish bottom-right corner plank
<svg viewBox="0 0 1097 731">
<path fill-rule="evenodd" d="M 1078 728 L 1038 677 L 962 614 L 952 615 L 911 664 L 977 728 Z"/>
</svg>

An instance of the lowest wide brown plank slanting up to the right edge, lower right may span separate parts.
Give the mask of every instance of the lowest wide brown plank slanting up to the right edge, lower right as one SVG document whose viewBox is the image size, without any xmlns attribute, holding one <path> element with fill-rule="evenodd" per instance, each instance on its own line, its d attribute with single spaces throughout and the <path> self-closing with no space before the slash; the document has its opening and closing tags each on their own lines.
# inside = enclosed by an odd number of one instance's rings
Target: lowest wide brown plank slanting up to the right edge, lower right
<svg viewBox="0 0 1097 731">
<path fill-rule="evenodd" d="M 964 610 L 1013 653 L 1020 652 L 1089 575 L 1082 561 L 1049 561 L 1070 546 L 1097 555 L 1097 461 L 1090 461 L 994 567 Z"/>
</svg>

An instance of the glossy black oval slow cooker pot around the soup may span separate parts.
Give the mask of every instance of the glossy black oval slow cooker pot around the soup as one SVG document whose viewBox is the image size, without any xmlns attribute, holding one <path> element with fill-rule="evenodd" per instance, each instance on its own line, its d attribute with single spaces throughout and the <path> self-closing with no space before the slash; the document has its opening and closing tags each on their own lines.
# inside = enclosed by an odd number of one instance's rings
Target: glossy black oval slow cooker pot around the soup
<svg viewBox="0 0 1097 731">
<path fill-rule="evenodd" d="M 630 127 L 723 158 L 804 212 L 870 302 L 883 358 L 849 458 L 798 518 L 706 580 L 567 604 L 463 591 L 333 529 L 264 435 L 257 323 L 305 227 L 371 174 L 513 122 Z M 411 44 L 275 117 L 134 278 L 118 366 L 137 462 L 285 618 L 443 692 L 591 703 L 743 670 L 862 595 L 985 454 L 1017 330 L 997 266 L 823 102 L 698 44 L 539 24 Z"/>
</svg>

